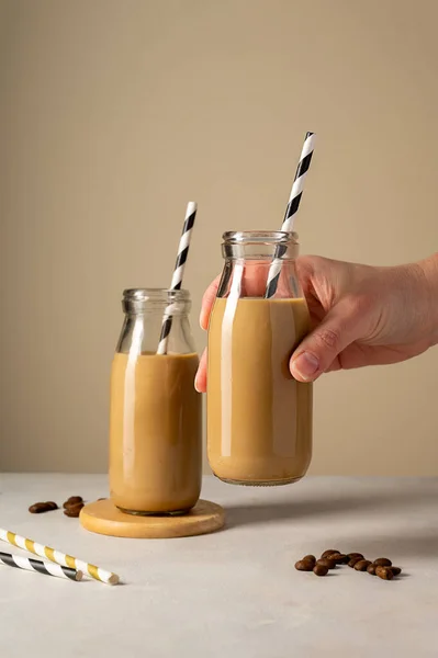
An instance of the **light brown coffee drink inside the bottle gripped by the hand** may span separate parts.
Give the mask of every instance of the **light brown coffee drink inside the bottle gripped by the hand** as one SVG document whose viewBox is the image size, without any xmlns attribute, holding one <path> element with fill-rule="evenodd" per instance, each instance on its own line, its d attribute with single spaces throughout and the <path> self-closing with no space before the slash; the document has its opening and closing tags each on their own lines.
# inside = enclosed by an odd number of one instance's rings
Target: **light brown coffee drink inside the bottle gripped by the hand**
<svg viewBox="0 0 438 658">
<path fill-rule="evenodd" d="M 312 384 L 289 359 L 308 332 L 304 299 L 218 298 L 209 328 L 207 450 L 236 484 L 300 479 L 312 457 Z"/>
</svg>

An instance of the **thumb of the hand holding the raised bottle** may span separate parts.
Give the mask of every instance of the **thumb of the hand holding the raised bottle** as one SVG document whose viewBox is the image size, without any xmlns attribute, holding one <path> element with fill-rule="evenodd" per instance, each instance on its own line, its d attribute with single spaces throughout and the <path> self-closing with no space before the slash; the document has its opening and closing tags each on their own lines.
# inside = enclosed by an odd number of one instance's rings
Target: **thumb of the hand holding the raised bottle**
<svg viewBox="0 0 438 658">
<path fill-rule="evenodd" d="M 291 356 L 290 370 L 299 382 L 313 382 L 359 338 L 359 318 L 342 305 L 335 306 Z"/>
</svg>

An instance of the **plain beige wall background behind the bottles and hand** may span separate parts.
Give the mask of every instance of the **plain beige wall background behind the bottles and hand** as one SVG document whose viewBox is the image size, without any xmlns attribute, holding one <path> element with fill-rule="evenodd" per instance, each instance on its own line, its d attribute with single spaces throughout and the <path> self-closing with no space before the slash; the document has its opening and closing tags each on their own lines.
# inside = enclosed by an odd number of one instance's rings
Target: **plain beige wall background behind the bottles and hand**
<svg viewBox="0 0 438 658">
<path fill-rule="evenodd" d="M 437 249 L 435 0 L 0 0 L 4 470 L 103 472 L 126 286 L 186 284 L 225 229 L 277 228 L 318 134 L 302 251 Z M 406 313 L 408 313 L 406 308 Z M 438 350 L 327 375 L 313 473 L 438 474 Z"/>
</svg>

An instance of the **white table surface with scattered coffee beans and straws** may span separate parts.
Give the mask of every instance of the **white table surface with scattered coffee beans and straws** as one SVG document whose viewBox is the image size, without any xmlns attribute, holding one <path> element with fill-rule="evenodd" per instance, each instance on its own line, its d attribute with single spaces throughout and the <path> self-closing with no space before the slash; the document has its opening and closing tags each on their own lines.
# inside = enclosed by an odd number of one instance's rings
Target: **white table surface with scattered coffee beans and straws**
<svg viewBox="0 0 438 658">
<path fill-rule="evenodd" d="M 438 479 L 307 477 L 263 489 L 206 477 L 202 497 L 224 506 L 226 529 L 182 540 L 105 537 L 61 511 L 27 512 L 37 500 L 106 490 L 101 475 L 0 475 L 0 526 L 124 580 L 0 566 L 1 656 L 438 656 Z M 294 569 L 330 547 L 390 557 L 404 576 Z"/>
</svg>

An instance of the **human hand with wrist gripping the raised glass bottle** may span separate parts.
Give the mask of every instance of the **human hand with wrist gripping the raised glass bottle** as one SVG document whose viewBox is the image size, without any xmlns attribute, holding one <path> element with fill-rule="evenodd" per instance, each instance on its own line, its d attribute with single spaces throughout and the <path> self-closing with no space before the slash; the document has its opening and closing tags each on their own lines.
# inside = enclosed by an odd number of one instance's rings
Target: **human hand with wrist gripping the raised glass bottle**
<svg viewBox="0 0 438 658">
<path fill-rule="evenodd" d="M 364 365 L 396 363 L 416 356 L 436 342 L 437 322 L 431 279 L 437 262 L 374 268 L 319 257 L 296 259 L 307 300 L 312 331 L 291 356 L 300 382 L 322 373 Z M 206 290 L 201 326 L 206 329 L 220 277 Z M 261 284 L 262 285 L 262 284 Z M 206 353 L 196 375 L 206 389 Z"/>
</svg>

